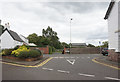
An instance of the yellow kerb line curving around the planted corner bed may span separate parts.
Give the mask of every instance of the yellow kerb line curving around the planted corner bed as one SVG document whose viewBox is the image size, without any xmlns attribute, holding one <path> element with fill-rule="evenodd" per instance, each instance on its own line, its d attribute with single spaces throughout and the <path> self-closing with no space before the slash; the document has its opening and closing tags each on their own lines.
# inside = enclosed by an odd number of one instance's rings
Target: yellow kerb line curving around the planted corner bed
<svg viewBox="0 0 120 82">
<path fill-rule="evenodd" d="M 27 65 L 20 65 L 20 64 L 7 63 L 7 62 L 0 62 L 0 63 L 14 65 L 14 66 L 20 66 L 20 67 L 40 67 L 40 66 L 43 66 L 44 64 L 46 64 L 47 62 L 49 62 L 51 59 L 53 59 L 53 58 L 50 57 L 50 58 L 46 59 L 45 61 L 43 61 L 42 63 L 40 63 L 39 65 L 35 65 L 35 66 L 27 66 Z"/>
</svg>

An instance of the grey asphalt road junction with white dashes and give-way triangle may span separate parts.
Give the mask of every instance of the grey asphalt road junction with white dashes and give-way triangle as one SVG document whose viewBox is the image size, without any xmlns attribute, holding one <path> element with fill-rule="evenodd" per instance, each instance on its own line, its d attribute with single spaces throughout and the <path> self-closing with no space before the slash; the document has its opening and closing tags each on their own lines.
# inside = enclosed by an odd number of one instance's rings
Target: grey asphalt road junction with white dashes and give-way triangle
<svg viewBox="0 0 120 82">
<path fill-rule="evenodd" d="M 119 80 L 118 70 L 92 61 L 100 54 L 44 56 L 53 59 L 37 68 L 3 64 L 3 80 Z"/>
</svg>

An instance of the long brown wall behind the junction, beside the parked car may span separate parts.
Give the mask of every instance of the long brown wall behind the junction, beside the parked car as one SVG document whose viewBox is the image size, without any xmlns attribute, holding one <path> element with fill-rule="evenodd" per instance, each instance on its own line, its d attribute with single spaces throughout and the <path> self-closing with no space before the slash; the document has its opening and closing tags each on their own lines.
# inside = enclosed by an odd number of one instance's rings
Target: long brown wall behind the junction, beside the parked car
<svg viewBox="0 0 120 82">
<path fill-rule="evenodd" d="M 69 49 L 64 49 L 69 50 Z M 100 54 L 100 48 L 71 48 L 71 54 Z"/>
</svg>

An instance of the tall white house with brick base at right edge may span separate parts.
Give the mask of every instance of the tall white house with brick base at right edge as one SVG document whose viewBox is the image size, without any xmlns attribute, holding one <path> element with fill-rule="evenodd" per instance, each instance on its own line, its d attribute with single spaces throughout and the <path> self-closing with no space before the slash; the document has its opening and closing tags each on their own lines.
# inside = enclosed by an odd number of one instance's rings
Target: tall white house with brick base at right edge
<svg viewBox="0 0 120 82">
<path fill-rule="evenodd" d="M 120 0 L 112 0 L 104 17 L 108 20 L 109 59 L 120 58 Z"/>
</svg>

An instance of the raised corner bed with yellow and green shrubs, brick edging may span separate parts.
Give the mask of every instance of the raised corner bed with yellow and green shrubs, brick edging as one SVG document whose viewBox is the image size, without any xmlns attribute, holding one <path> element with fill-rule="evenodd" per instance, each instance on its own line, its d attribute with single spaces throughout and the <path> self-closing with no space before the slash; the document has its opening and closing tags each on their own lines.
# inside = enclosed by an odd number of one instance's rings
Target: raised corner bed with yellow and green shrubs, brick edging
<svg viewBox="0 0 120 82">
<path fill-rule="evenodd" d="M 39 49 L 30 49 L 26 45 L 16 46 L 14 49 L 4 49 L 0 54 L 4 58 L 24 61 L 35 61 L 43 57 Z"/>
</svg>

